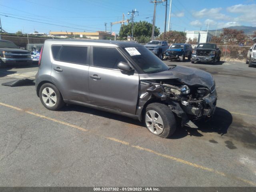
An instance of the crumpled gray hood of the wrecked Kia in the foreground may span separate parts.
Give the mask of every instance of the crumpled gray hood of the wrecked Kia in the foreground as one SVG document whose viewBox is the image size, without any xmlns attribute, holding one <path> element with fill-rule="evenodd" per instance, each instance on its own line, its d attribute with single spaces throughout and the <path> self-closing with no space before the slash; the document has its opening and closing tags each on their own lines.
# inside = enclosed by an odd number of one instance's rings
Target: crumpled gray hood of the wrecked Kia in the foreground
<svg viewBox="0 0 256 192">
<path fill-rule="evenodd" d="M 160 79 L 176 79 L 189 86 L 204 86 L 209 89 L 214 85 L 214 78 L 210 73 L 192 67 L 176 66 L 163 72 L 140 74 L 140 80 Z"/>
</svg>

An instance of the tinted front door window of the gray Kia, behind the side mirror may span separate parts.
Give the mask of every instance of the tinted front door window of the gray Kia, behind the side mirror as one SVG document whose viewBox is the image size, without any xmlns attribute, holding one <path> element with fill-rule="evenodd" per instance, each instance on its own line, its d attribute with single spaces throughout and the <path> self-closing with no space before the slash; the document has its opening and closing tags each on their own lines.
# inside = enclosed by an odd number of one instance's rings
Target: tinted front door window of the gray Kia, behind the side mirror
<svg viewBox="0 0 256 192">
<path fill-rule="evenodd" d="M 116 48 L 93 47 L 93 66 L 117 69 L 119 62 L 127 62 Z"/>
</svg>

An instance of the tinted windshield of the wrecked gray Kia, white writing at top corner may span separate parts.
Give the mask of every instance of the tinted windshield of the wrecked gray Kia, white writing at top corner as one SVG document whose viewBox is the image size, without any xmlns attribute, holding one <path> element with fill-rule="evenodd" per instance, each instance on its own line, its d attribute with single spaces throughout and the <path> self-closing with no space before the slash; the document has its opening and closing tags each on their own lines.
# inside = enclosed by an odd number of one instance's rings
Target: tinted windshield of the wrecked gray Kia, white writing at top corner
<svg viewBox="0 0 256 192">
<path fill-rule="evenodd" d="M 128 48 L 124 48 L 124 50 L 131 56 L 132 60 L 144 71 L 144 73 L 157 73 L 169 69 L 164 62 L 157 58 L 146 47 L 136 46 L 131 49 L 133 52 L 129 51 Z"/>
</svg>

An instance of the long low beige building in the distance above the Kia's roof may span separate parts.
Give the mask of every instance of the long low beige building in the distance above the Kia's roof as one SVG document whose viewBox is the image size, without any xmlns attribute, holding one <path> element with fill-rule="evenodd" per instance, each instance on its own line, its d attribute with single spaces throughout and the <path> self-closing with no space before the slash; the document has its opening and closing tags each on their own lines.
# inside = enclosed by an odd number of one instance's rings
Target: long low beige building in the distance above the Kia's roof
<svg viewBox="0 0 256 192">
<path fill-rule="evenodd" d="M 89 38 L 89 39 L 106 39 L 106 37 L 114 37 L 112 34 L 104 31 L 97 32 L 49 32 L 50 36 L 59 36 L 66 38 L 68 36 L 74 36 L 76 38 Z"/>
</svg>

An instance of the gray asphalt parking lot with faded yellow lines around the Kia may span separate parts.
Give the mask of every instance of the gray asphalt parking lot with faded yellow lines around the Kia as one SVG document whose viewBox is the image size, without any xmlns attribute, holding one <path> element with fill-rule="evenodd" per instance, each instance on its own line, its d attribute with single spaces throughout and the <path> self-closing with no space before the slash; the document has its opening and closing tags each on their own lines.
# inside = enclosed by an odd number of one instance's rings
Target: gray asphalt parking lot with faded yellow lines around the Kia
<svg viewBox="0 0 256 192">
<path fill-rule="evenodd" d="M 256 186 L 256 68 L 165 61 L 210 72 L 215 116 L 169 139 L 82 106 L 44 108 L 34 85 L 0 85 L 0 186 Z M 0 84 L 37 66 L 0 69 Z"/>
</svg>

